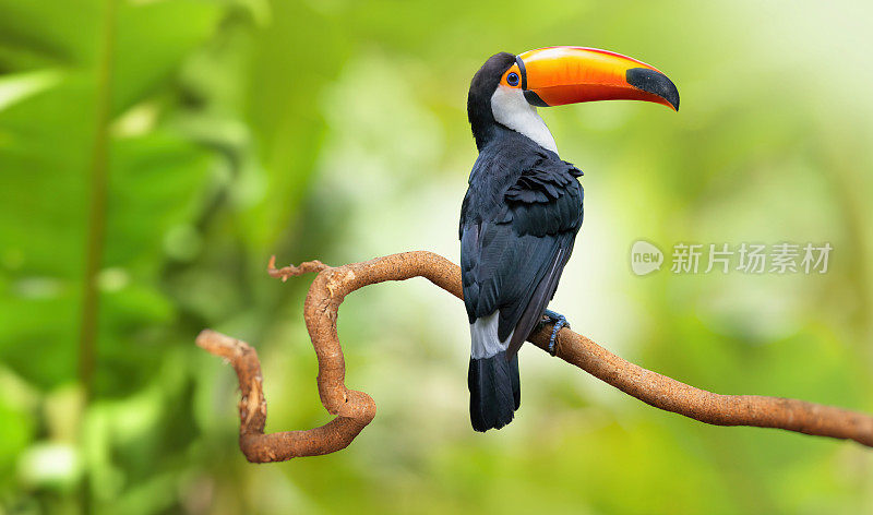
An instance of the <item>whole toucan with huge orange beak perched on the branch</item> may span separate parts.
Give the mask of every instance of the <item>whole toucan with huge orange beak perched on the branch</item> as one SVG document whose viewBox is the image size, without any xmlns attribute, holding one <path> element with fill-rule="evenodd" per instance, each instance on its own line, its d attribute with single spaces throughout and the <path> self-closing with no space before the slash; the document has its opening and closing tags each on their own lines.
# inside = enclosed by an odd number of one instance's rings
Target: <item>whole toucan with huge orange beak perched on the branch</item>
<svg viewBox="0 0 873 515">
<path fill-rule="evenodd" d="M 476 431 L 510 423 L 521 403 L 518 348 L 547 310 L 582 227 L 582 171 L 558 156 L 537 107 L 630 99 L 679 110 L 679 92 L 644 62 L 583 47 L 491 56 L 476 72 L 467 116 L 479 156 L 461 208 L 461 268 L 471 350 Z"/>
</svg>

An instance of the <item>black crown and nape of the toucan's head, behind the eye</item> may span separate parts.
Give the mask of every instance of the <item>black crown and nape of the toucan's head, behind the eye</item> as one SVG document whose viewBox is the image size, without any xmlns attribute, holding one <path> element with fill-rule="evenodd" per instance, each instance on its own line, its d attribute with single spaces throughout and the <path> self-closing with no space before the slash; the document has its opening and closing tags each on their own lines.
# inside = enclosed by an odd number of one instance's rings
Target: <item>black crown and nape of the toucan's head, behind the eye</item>
<svg viewBox="0 0 873 515">
<path fill-rule="evenodd" d="M 515 64 L 515 55 L 509 52 L 494 53 L 482 64 L 470 81 L 467 96 L 467 118 L 470 121 L 476 147 L 481 149 L 490 139 L 497 121 L 491 111 L 491 96 L 500 84 L 503 73 Z"/>
</svg>

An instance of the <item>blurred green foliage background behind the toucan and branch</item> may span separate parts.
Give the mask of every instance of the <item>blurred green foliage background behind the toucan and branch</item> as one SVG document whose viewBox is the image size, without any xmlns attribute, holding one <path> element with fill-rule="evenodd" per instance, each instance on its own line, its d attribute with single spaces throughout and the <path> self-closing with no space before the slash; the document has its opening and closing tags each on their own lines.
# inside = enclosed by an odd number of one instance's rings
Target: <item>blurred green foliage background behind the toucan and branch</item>
<svg viewBox="0 0 873 515">
<path fill-rule="evenodd" d="M 682 110 L 541 110 L 586 172 L 553 306 L 701 387 L 873 411 L 871 14 L 861 1 L 0 0 L 0 514 L 873 513 L 859 445 L 703 426 L 535 349 L 516 421 L 474 433 L 463 306 L 423 282 L 344 303 L 348 384 L 379 415 L 335 455 L 246 463 L 234 374 L 193 346 L 207 326 L 258 346 L 267 430 L 328 420 L 301 321 L 309 280 L 267 278 L 270 254 L 457 261 L 470 76 L 495 51 L 584 45 L 659 67 Z M 106 238 L 86 276 L 101 167 Z M 638 278 L 639 238 L 835 250 L 824 275 Z M 99 310 L 81 347 L 87 282 Z M 92 349 L 94 372 L 80 371 Z"/>
</svg>

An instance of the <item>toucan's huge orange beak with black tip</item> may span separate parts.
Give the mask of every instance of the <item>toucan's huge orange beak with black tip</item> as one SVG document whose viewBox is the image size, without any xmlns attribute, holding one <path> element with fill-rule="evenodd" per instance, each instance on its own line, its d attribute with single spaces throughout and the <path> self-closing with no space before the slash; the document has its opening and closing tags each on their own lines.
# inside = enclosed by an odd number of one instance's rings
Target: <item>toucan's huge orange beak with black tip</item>
<svg viewBox="0 0 873 515">
<path fill-rule="evenodd" d="M 679 91 L 656 68 L 596 48 L 548 47 L 515 58 L 529 104 L 645 100 L 679 110 Z"/>
</svg>

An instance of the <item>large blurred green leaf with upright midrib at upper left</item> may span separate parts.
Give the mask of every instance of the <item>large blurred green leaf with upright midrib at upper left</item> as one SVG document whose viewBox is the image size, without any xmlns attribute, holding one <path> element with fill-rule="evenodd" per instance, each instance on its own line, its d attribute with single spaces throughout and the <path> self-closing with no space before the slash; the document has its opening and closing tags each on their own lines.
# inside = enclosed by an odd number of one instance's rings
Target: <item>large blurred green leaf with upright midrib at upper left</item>
<svg viewBox="0 0 873 515">
<path fill-rule="evenodd" d="M 11 92 L 0 106 L 7 294 L 0 297 L 0 356 L 25 378 L 49 386 L 75 376 L 83 280 L 97 282 L 108 294 L 98 316 L 98 348 L 109 356 L 123 355 L 121 349 L 130 347 L 127 335 L 137 327 L 172 318 L 157 290 L 164 240 L 196 214 L 208 151 L 178 131 L 159 129 L 159 98 L 172 93 L 168 76 L 210 35 L 219 11 L 196 1 L 122 2 L 108 36 L 100 37 L 101 2 L 25 3 L 0 4 L 5 13 L 0 19 L 15 27 L 0 40 L 11 53 L 45 49 L 40 58 L 60 68 L 0 80 Z M 64 51 L 49 51 L 56 47 Z M 97 72 L 105 56 L 113 56 L 106 76 Z M 36 62 L 10 59 L 8 67 L 28 70 Z M 98 95 L 105 93 L 113 100 L 109 122 L 100 123 Z M 113 130 L 117 115 L 143 103 L 153 103 L 156 111 L 152 127 L 134 135 Z M 98 137 L 109 139 L 106 151 L 95 151 Z M 99 268 L 109 275 L 86 278 L 87 214 L 97 194 L 89 191 L 88 177 L 96 166 L 108 167 L 108 208 L 99 213 L 107 232 L 98 253 Z M 136 362 L 135 347 L 127 350 Z M 45 358 L 34 359 L 34 352 Z M 105 364 L 101 370 L 111 373 L 112 362 Z M 128 386 L 135 384 L 130 379 Z"/>
</svg>

